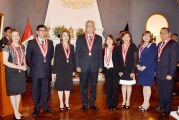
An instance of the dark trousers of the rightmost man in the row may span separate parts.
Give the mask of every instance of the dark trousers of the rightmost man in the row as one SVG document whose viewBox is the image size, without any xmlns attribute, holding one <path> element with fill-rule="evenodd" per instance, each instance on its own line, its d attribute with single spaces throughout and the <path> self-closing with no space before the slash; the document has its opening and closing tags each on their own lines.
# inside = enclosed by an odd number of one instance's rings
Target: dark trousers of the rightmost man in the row
<svg viewBox="0 0 179 120">
<path fill-rule="evenodd" d="M 157 78 L 159 106 L 169 113 L 173 101 L 173 80 L 160 80 Z"/>
</svg>

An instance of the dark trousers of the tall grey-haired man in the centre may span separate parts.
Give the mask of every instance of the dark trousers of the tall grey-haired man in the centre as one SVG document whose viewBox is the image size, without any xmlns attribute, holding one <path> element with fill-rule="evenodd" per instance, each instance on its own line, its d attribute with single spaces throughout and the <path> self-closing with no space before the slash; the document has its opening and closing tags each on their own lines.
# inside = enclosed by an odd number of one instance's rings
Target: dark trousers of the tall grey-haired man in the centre
<svg viewBox="0 0 179 120">
<path fill-rule="evenodd" d="M 88 106 L 88 86 L 90 86 L 89 105 L 90 107 L 95 106 L 97 78 L 98 73 L 92 72 L 90 69 L 80 73 L 80 91 L 83 106 Z"/>
</svg>

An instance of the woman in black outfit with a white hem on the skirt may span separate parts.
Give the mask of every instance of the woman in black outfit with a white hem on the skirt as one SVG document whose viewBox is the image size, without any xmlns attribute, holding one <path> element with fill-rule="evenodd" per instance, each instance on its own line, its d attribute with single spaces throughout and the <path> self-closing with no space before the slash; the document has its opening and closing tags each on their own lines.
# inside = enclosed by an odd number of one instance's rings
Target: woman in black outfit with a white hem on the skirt
<svg viewBox="0 0 179 120">
<path fill-rule="evenodd" d="M 137 47 L 132 43 L 132 37 L 129 32 L 124 32 L 122 35 L 123 44 L 120 45 L 120 84 L 122 85 L 122 108 L 130 107 L 130 96 L 132 92 L 132 85 L 136 83 L 136 62 L 137 62 Z M 127 100 L 126 100 L 127 93 Z"/>
</svg>

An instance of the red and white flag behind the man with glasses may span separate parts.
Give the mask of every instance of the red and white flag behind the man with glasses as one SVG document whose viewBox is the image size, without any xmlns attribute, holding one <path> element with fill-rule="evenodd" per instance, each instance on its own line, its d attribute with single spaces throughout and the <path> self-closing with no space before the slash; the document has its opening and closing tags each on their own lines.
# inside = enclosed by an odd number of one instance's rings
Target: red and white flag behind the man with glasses
<svg viewBox="0 0 179 120">
<path fill-rule="evenodd" d="M 26 28 L 24 31 L 24 34 L 22 36 L 21 43 L 26 47 L 29 40 L 32 40 L 34 38 L 32 29 L 30 27 L 30 22 L 27 20 Z"/>
</svg>

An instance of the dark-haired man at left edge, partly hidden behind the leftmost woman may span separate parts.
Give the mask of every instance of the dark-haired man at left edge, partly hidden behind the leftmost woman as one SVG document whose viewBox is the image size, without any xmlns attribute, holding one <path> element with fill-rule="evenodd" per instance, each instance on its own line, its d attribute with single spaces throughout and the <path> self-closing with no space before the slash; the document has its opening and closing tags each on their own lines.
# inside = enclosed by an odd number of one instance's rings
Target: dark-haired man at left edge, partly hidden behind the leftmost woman
<svg viewBox="0 0 179 120">
<path fill-rule="evenodd" d="M 10 43 L 11 38 L 11 27 L 5 27 L 4 28 L 4 37 L 0 40 L 0 51 L 2 51 L 2 48 L 4 48 L 5 45 Z"/>
</svg>

